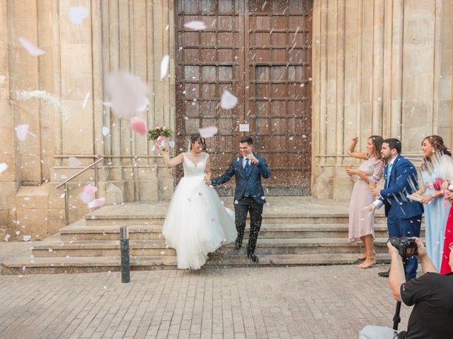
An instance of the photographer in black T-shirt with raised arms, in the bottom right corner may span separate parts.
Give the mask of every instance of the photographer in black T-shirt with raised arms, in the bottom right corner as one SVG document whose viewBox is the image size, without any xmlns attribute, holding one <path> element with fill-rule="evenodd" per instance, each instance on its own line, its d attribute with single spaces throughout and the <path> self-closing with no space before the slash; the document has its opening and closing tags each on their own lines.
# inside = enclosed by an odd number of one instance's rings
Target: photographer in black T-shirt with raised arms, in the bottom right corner
<svg viewBox="0 0 453 339">
<path fill-rule="evenodd" d="M 398 333 L 392 328 L 365 326 L 359 339 L 452 339 L 453 338 L 453 273 L 440 275 L 426 253 L 423 242 L 412 238 L 418 247 L 418 260 L 424 275 L 406 282 L 403 259 L 390 242 L 391 256 L 389 285 L 398 302 L 412 306 L 408 330 Z M 453 251 L 449 265 L 453 269 Z"/>
</svg>

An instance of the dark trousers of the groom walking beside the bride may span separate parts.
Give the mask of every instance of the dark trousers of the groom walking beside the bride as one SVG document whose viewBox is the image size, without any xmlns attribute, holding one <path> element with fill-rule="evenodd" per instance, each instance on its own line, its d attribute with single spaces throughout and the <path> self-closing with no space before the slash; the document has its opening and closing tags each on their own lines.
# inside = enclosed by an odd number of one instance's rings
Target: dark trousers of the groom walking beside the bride
<svg viewBox="0 0 453 339">
<path fill-rule="evenodd" d="M 236 230 L 241 242 L 243 232 L 246 229 L 247 213 L 250 213 L 250 235 L 248 236 L 247 252 L 253 253 L 258 240 L 258 232 L 260 232 L 261 220 L 263 220 L 263 204 L 257 203 L 251 196 L 243 196 L 238 203 L 234 204 Z"/>
</svg>

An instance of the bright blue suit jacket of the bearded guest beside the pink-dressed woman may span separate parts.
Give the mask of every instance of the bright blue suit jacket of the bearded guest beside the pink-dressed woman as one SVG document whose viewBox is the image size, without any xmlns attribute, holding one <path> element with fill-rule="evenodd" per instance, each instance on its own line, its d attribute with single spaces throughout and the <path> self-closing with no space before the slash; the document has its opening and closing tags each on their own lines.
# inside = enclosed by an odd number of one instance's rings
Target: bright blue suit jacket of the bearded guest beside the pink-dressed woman
<svg viewBox="0 0 453 339">
<path fill-rule="evenodd" d="M 418 191 L 417 169 L 412 162 L 405 157 L 398 155 L 394 165 L 391 167 L 390 178 L 387 178 L 387 167 L 384 169 L 386 189 L 379 191 L 380 198 L 385 206 L 385 215 L 392 214 L 399 219 L 413 218 L 423 214 L 423 205 L 416 201 L 409 201 L 406 194 L 413 194 Z M 389 184 L 387 182 L 389 181 Z"/>
</svg>

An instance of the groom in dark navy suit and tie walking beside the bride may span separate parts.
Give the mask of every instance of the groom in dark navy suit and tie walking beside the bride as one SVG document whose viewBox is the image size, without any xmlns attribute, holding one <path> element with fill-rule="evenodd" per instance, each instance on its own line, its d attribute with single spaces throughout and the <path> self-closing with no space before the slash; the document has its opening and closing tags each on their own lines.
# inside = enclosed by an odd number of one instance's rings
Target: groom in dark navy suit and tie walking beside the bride
<svg viewBox="0 0 453 339">
<path fill-rule="evenodd" d="M 250 235 L 248 236 L 247 257 L 253 262 L 258 262 L 255 254 L 258 232 L 260 232 L 261 220 L 263 219 L 263 205 L 266 202 L 261 177 L 270 177 L 270 171 L 266 160 L 252 153 L 253 139 L 250 136 L 241 136 L 239 139 L 239 151 L 241 157 L 231 160 L 231 164 L 222 177 L 212 179 L 213 186 L 228 182 L 231 177 L 236 179 L 236 191 L 234 192 L 234 214 L 236 218 L 236 249 L 241 249 L 243 231 L 246 228 L 247 213 L 250 211 Z"/>
</svg>

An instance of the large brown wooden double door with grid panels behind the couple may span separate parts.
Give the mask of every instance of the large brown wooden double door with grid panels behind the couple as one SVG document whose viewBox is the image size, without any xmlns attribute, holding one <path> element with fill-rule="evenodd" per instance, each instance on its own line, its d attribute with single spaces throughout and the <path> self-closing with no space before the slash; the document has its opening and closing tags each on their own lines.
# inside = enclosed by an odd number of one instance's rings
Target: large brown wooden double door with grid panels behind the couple
<svg viewBox="0 0 453 339">
<path fill-rule="evenodd" d="M 266 194 L 310 194 L 311 13 L 311 0 L 176 1 L 177 147 L 217 126 L 207 139 L 213 177 L 249 134 L 272 171 Z M 184 27 L 193 20 L 206 29 Z M 239 99 L 233 109 L 220 107 L 224 90 Z"/>
</svg>

